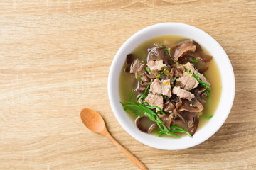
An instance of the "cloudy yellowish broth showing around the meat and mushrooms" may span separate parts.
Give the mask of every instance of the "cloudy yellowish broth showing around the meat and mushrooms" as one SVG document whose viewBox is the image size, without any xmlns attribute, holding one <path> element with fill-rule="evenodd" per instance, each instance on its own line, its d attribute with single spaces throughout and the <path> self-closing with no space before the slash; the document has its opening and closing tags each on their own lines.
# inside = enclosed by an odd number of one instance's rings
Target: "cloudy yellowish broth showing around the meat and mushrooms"
<svg viewBox="0 0 256 170">
<path fill-rule="evenodd" d="M 141 45 L 136 47 L 132 54 L 136 57 L 138 57 L 140 60 L 143 60 L 146 63 L 146 49 L 154 43 L 161 43 L 164 42 L 164 40 L 168 40 L 170 42 L 170 45 L 175 45 L 178 42 L 182 42 L 183 40 L 188 40 L 188 38 L 184 38 L 182 36 L 178 35 L 161 35 L 155 38 L 151 38 L 149 40 L 146 40 Z M 201 45 L 203 52 L 210 55 L 210 53 Z M 128 54 L 127 54 L 128 55 Z M 126 57 L 126 56 L 124 56 Z M 213 56 L 213 60 L 211 60 L 208 64 L 208 70 L 204 73 L 206 76 L 206 79 L 210 82 L 210 98 L 207 99 L 206 103 L 204 103 L 203 107 L 203 115 L 213 115 L 218 107 L 218 103 L 220 101 L 220 94 L 221 94 L 221 79 L 220 79 L 220 72 L 218 69 L 218 65 L 216 64 Z M 122 67 L 122 72 L 120 74 L 119 79 L 119 94 L 122 103 L 125 103 L 127 101 L 127 98 L 129 97 L 129 94 L 131 94 L 132 89 L 135 89 L 138 81 L 134 78 L 133 74 L 129 74 L 126 72 L 123 72 L 125 69 L 126 64 L 124 63 L 124 66 Z M 129 118 L 135 122 L 137 116 L 133 115 L 132 113 L 128 113 Z M 206 125 L 208 123 L 209 119 L 207 118 L 199 118 L 199 125 L 197 131 L 203 127 L 203 125 Z M 151 135 L 157 135 L 157 132 L 152 132 Z M 183 136 L 181 134 L 178 134 L 180 136 Z M 167 135 L 166 135 L 167 136 Z M 168 136 L 167 136 L 168 137 Z"/>
</svg>

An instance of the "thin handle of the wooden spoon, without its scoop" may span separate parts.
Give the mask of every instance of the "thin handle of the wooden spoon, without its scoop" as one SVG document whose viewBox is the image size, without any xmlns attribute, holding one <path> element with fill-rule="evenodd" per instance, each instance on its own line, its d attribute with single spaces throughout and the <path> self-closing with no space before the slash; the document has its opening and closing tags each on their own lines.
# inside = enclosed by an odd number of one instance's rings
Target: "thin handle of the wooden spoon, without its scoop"
<svg viewBox="0 0 256 170">
<path fill-rule="evenodd" d="M 138 166 L 139 169 L 147 170 L 146 166 L 144 166 L 144 164 L 142 162 L 140 162 L 139 159 L 137 159 L 137 157 L 135 157 L 131 152 L 129 152 L 127 149 L 125 149 L 122 145 L 120 145 L 119 142 L 114 140 L 112 135 L 110 135 L 110 132 L 105 131 L 104 133 L 102 133 L 102 135 L 105 135 L 112 142 L 114 142 L 114 145 L 116 145 L 120 149 L 121 152 L 123 152 L 136 166 Z"/>
</svg>

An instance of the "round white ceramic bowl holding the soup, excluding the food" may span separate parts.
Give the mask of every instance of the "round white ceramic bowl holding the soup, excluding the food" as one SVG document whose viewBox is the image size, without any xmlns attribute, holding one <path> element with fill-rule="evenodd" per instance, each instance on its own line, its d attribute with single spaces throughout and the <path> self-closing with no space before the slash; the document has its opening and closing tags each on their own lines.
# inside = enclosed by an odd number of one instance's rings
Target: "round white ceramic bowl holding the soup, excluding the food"
<svg viewBox="0 0 256 170">
<path fill-rule="evenodd" d="M 139 129 L 137 129 L 132 120 L 130 120 L 127 113 L 125 113 L 122 109 L 122 105 L 119 103 L 119 76 L 122 72 L 122 66 L 126 60 L 126 56 L 142 42 L 159 35 L 167 34 L 182 35 L 184 37 L 196 40 L 196 42 L 203 45 L 203 47 L 206 47 L 206 50 L 208 50 L 208 52 L 213 55 L 220 70 L 222 81 L 220 103 L 217 110 L 215 111 L 213 118 L 211 118 L 206 125 L 197 130 L 195 135 L 193 135 L 193 138 L 188 136 L 178 139 L 172 137 L 161 138 L 141 132 Z M 233 68 L 230 64 L 230 60 L 228 59 L 228 56 L 226 55 L 223 48 L 218 44 L 216 40 L 214 40 L 203 30 L 183 23 L 159 23 L 154 26 L 149 26 L 139 30 L 126 42 L 124 42 L 122 47 L 120 47 L 117 54 L 114 56 L 114 60 L 112 61 L 110 67 L 107 90 L 112 111 L 114 112 L 114 115 L 120 125 L 122 125 L 122 128 L 124 128 L 124 130 L 126 130 L 129 135 L 134 137 L 139 142 L 144 143 L 144 145 L 155 147 L 157 149 L 186 149 L 188 147 L 196 146 L 207 140 L 215 132 L 217 132 L 221 125 L 223 125 L 233 105 L 235 96 L 235 77 Z"/>
</svg>

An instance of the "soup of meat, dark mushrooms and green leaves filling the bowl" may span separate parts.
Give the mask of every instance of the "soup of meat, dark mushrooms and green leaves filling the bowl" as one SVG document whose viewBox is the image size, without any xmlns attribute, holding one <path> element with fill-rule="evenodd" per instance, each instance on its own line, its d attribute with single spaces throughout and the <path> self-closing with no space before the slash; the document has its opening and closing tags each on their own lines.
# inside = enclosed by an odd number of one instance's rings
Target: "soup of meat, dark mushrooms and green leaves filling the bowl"
<svg viewBox="0 0 256 170">
<path fill-rule="evenodd" d="M 122 70 L 121 103 L 143 132 L 192 137 L 218 106 L 218 66 L 194 40 L 177 35 L 147 40 L 127 54 Z"/>
</svg>

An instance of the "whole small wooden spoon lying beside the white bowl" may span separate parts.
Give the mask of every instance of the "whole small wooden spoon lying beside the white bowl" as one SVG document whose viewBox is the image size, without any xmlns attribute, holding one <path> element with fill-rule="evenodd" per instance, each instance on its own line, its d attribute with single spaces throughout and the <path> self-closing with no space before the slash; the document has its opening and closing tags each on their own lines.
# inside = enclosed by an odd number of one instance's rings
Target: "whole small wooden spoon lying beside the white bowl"
<svg viewBox="0 0 256 170">
<path fill-rule="evenodd" d="M 147 169 L 146 166 L 144 166 L 144 164 L 142 164 L 142 162 L 140 162 L 139 159 L 137 159 L 137 157 L 135 157 L 122 145 L 120 145 L 119 142 L 114 140 L 112 135 L 110 135 L 110 132 L 108 132 L 105 122 L 99 113 L 90 108 L 84 108 L 80 112 L 80 117 L 82 119 L 82 123 L 89 130 L 92 130 L 92 132 L 97 132 L 108 137 L 112 142 L 114 142 L 114 145 L 116 145 L 135 165 L 139 167 L 139 169 Z"/>
</svg>

